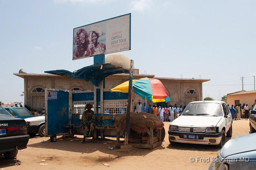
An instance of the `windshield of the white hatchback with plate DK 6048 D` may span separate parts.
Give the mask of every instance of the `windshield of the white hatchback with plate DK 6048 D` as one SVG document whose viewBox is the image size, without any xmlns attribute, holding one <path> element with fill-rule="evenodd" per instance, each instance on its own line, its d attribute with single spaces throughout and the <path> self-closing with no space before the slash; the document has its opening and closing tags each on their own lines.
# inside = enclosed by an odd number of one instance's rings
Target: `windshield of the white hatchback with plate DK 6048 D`
<svg viewBox="0 0 256 170">
<path fill-rule="evenodd" d="M 182 115 L 222 116 L 220 103 L 189 103 Z"/>
</svg>

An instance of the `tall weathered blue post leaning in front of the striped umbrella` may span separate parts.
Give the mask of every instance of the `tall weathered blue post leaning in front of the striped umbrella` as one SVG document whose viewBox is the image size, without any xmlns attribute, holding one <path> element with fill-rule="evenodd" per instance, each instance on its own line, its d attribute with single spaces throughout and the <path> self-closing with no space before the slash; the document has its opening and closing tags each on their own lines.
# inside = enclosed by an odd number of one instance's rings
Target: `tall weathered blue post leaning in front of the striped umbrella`
<svg viewBox="0 0 256 170">
<path fill-rule="evenodd" d="M 129 89 L 128 89 L 128 106 L 127 106 L 127 114 L 126 114 L 126 131 L 124 137 L 124 145 L 128 145 L 128 136 L 130 131 L 130 113 L 131 113 L 131 103 L 132 103 L 132 76 L 133 76 L 133 63 L 131 60 L 130 65 L 130 76 L 129 76 Z"/>
</svg>

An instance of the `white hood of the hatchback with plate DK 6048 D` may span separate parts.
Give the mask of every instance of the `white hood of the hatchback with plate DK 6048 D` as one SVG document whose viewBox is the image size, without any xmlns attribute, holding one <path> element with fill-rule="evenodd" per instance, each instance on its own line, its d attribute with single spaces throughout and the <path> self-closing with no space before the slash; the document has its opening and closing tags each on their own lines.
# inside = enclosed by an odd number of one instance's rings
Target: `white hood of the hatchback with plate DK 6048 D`
<svg viewBox="0 0 256 170">
<path fill-rule="evenodd" d="M 179 116 L 171 125 L 180 127 L 207 128 L 216 126 L 222 116 Z"/>
</svg>

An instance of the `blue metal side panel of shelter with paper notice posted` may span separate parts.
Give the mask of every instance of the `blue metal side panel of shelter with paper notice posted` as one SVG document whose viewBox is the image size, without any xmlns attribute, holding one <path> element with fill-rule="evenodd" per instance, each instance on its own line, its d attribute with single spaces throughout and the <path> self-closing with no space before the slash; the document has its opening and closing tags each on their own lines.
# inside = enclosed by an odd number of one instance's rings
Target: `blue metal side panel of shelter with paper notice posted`
<svg viewBox="0 0 256 170">
<path fill-rule="evenodd" d="M 45 90 L 45 136 L 69 134 L 64 127 L 69 123 L 69 96 L 68 90 Z"/>
</svg>

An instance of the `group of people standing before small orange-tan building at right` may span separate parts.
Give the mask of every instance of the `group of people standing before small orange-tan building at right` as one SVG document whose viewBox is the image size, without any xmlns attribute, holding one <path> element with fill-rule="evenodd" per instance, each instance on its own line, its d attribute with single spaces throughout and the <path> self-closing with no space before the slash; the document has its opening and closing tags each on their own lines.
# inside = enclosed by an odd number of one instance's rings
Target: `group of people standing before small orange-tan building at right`
<svg viewBox="0 0 256 170">
<path fill-rule="evenodd" d="M 253 105 L 252 105 L 253 106 Z M 238 105 L 228 105 L 230 113 L 232 115 L 232 120 L 241 120 L 241 119 L 248 119 L 249 118 L 249 111 L 251 108 L 248 107 L 248 104 L 238 104 Z"/>
</svg>

